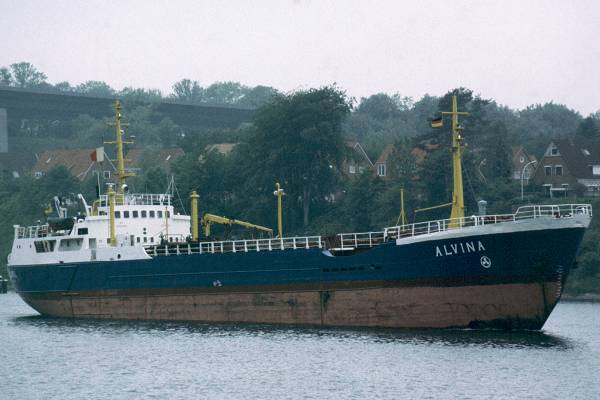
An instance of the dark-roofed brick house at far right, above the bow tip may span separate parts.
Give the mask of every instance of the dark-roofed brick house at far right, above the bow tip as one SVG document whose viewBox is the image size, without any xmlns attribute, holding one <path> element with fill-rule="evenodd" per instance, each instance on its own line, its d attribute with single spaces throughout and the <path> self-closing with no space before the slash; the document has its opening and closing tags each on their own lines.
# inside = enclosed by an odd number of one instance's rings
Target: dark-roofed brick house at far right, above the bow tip
<svg viewBox="0 0 600 400">
<path fill-rule="evenodd" d="M 582 138 L 550 142 L 533 175 L 553 197 L 566 196 L 578 187 L 583 195 L 600 196 L 600 142 Z"/>
</svg>

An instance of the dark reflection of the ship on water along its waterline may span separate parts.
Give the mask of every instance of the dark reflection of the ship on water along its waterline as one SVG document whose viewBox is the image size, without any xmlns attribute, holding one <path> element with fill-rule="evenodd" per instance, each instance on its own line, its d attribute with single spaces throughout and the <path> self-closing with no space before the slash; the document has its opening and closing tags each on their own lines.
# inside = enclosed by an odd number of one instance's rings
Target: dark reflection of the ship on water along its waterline
<svg viewBox="0 0 600 400">
<path fill-rule="evenodd" d="M 16 317 L 15 325 L 31 326 L 58 333 L 138 335 L 189 335 L 202 337 L 269 337 L 273 340 L 329 340 L 412 345 L 477 346 L 494 348 L 553 348 L 568 350 L 575 343 L 567 338 L 538 331 L 414 330 L 380 328 L 298 327 L 263 324 L 227 324 L 172 321 L 111 321 L 93 319 Z"/>
</svg>

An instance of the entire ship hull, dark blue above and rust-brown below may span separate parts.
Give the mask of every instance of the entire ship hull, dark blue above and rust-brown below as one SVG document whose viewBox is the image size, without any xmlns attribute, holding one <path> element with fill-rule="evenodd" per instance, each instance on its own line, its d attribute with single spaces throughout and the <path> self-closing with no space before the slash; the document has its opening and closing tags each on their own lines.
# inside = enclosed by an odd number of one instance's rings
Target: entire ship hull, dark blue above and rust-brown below
<svg viewBox="0 0 600 400">
<path fill-rule="evenodd" d="M 41 314 L 408 328 L 540 329 L 583 227 L 323 249 L 9 266 Z"/>
</svg>

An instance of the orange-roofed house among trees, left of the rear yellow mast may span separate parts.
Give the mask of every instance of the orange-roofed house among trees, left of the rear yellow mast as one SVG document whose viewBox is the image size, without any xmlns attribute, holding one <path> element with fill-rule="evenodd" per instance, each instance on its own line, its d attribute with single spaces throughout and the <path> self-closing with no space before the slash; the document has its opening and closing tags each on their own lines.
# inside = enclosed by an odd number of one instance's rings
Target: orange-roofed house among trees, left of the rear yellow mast
<svg viewBox="0 0 600 400">
<path fill-rule="evenodd" d="M 47 150 L 37 157 L 32 168 L 36 178 L 46 175 L 54 167 L 64 166 L 79 180 L 84 180 L 90 175 L 101 174 L 105 179 L 110 179 L 116 171 L 114 164 L 104 158 L 103 162 L 92 161 L 95 149 L 62 149 Z"/>
</svg>

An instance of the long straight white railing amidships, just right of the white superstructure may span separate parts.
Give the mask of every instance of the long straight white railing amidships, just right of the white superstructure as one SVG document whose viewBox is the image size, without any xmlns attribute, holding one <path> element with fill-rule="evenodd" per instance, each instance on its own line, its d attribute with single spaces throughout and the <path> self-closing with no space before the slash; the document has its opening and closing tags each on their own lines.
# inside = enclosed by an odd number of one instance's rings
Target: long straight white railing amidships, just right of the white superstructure
<svg viewBox="0 0 600 400">
<path fill-rule="evenodd" d="M 153 256 L 180 254 L 242 253 L 276 250 L 322 249 L 321 236 L 288 237 L 282 239 L 225 240 L 213 242 L 169 243 L 147 249 Z"/>
</svg>

